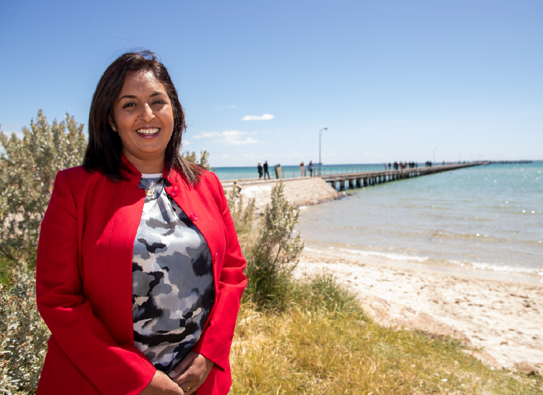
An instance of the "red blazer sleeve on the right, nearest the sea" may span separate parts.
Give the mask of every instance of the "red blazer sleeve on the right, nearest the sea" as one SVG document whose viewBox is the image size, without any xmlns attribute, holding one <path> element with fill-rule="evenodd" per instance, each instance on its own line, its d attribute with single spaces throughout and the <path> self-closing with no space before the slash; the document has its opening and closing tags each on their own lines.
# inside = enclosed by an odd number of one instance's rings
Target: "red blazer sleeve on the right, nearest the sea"
<svg viewBox="0 0 543 395">
<path fill-rule="evenodd" d="M 222 212 L 226 229 L 226 253 L 220 272 L 217 306 L 208 327 L 204 329 L 204 333 L 201 334 L 200 340 L 192 351 L 204 355 L 205 358 L 213 361 L 218 369 L 225 371 L 230 366 L 230 348 L 236 328 L 237 314 L 243 290 L 247 286 L 247 277 L 243 273 L 247 263 L 239 247 L 223 186 L 216 175 L 213 174 L 213 177 L 218 183 L 218 206 Z"/>
</svg>

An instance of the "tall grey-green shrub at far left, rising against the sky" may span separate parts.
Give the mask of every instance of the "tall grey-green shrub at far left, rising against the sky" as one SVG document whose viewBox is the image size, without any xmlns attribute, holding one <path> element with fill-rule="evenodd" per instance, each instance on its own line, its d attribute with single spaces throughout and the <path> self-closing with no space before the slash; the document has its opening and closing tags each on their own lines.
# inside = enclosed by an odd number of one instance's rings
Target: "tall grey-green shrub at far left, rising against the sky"
<svg viewBox="0 0 543 395">
<path fill-rule="evenodd" d="M 66 130 L 67 129 L 67 130 Z M 9 280 L 8 266 L 36 262 L 40 224 L 49 204 L 56 172 L 81 164 L 87 146 L 83 124 L 66 114 L 47 123 L 40 110 L 23 139 L 0 131 L 0 275 Z"/>
</svg>

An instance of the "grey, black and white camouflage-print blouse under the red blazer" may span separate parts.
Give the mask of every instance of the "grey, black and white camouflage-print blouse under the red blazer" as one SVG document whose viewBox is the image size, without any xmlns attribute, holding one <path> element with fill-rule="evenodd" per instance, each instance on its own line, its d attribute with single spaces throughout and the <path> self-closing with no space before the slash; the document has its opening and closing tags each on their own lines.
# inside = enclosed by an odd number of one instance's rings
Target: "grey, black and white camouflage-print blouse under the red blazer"
<svg viewBox="0 0 543 395">
<path fill-rule="evenodd" d="M 142 174 L 140 187 L 161 175 Z M 209 247 L 167 183 L 160 178 L 145 198 L 132 258 L 134 346 L 166 373 L 198 341 L 214 297 Z"/>
</svg>

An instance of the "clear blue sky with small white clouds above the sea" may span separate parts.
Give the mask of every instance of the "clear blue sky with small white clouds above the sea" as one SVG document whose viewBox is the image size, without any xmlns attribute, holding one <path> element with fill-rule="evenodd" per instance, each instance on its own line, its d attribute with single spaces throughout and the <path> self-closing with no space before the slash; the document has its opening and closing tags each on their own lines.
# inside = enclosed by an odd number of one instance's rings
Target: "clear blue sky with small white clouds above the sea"
<svg viewBox="0 0 543 395">
<path fill-rule="evenodd" d="M 316 162 L 324 127 L 325 164 L 541 160 L 541 20 L 540 1 L 4 1 L 0 125 L 86 124 L 105 68 L 146 47 L 212 166 Z"/>
</svg>

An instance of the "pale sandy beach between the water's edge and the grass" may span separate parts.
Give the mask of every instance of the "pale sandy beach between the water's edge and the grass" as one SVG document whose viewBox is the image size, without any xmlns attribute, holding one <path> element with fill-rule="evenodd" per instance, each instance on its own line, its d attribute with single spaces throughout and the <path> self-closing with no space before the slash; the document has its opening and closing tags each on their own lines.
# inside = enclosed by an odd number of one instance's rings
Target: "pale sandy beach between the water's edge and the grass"
<svg viewBox="0 0 543 395">
<path fill-rule="evenodd" d="M 482 279 L 305 252 L 297 275 L 329 272 L 361 300 L 405 306 L 430 315 L 491 355 L 498 367 L 543 366 L 543 285 Z M 386 304 L 383 300 L 382 303 Z"/>
</svg>

